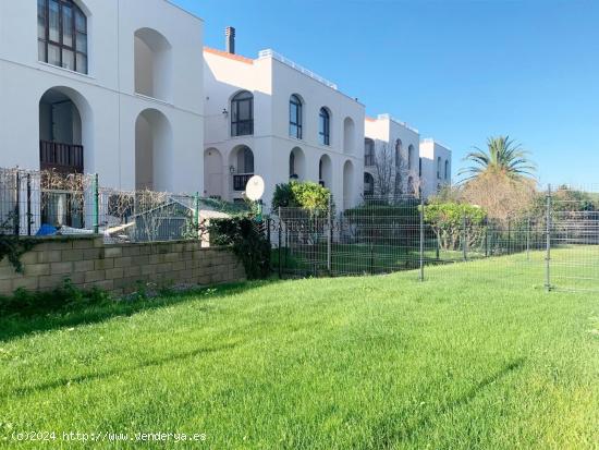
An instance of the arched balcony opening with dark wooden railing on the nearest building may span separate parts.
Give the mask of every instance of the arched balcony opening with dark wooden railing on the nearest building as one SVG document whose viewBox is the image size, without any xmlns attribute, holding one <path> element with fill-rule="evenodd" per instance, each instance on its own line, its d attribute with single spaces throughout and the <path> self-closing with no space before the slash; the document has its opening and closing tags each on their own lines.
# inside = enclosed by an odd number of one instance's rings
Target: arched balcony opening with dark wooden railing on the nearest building
<svg viewBox="0 0 599 450">
<path fill-rule="evenodd" d="M 39 98 L 40 169 L 95 171 L 93 111 L 71 87 L 56 86 Z"/>
</svg>

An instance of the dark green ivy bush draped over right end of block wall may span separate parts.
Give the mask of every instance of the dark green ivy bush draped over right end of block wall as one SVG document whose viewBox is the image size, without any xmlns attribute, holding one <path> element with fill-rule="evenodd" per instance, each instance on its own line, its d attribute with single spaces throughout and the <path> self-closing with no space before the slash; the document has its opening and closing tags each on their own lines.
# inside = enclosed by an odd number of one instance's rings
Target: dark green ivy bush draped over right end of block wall
<svg viewBox="0 0 599 450">
<path fill-rule="evenodd" d="M 249 280 L 270 276 L 270 243 L 254 220 L 247 217 L 215 219 L 210 221 L 209 232 L 212 244 L 232 248 Z"/>
</svg>

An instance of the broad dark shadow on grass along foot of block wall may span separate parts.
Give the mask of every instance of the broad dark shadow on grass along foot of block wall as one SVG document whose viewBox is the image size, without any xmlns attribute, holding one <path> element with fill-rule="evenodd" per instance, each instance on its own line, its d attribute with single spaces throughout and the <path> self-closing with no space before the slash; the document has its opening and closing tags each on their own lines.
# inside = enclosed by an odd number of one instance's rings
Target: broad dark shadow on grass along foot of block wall
<svg viewBox="0 0 599 450">
<path fill-rule="evenodd" d="M 39 314 L 13 314 L 0 317 L 0 342 L 8 342 L 35 332 L 65 327 L 98 324 L 115 317 L 129 317 L 137 313 L 168 307 L 190 301 L 215 301 L 264 287 L 276 281 L 253 281 L 203 288 L 183 293 L 146 300 L 109 300 L 99 304 L 72 304 L 57 311 Z"/>
</svg>

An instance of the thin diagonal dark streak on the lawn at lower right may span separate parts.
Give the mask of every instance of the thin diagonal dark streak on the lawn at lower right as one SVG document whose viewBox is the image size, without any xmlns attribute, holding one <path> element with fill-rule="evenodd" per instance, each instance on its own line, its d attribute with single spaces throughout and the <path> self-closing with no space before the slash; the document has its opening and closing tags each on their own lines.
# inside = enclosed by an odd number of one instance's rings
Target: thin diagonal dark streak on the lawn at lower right
<svg viewBox="0 0 599 450">
<path fill-rule="evenodd" d="M 464 406 L 465 404 L 473 401 L 481 391 L 487 389 L 489 386 L 499 381 L 501 378 L 510 375 L 512 372 L 518 370 L 524 366 L 525 358 L 516 358 L 504 367 L 502 367 L 497 373 L 488 376 L 482 379 L 480 382 L 473 386 L 466 393 L 459 397 L 457 399 L 450 401 L 439 409 L 428 413 L 423 416 L 414 424 L 411 424 L 406 427 L 398 427 L 399 424 L 406 422 L 406 416 L 408 417 L 409 413 L 402 412 L 401 414 L 393 414 L 384 417 L 378 424 L 371 428 L 371 436 L 377 437 L 376 447 L 377 448 L 395 448 L 400 443 L 409 442 L 414 437 L 420 433 L 423 429 L 430 427 L 436 417 L 439 417 L 443 414 L 449 413 L 455 409 Z M 356 448 L 367 448 L 368 446 L 363 445 L 356 446 Z"/>
</svg>

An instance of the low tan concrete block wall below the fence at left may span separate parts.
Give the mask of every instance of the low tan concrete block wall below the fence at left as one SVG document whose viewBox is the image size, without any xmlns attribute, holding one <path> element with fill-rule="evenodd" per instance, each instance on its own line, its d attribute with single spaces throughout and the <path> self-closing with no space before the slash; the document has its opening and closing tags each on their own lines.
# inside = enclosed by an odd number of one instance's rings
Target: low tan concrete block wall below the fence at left
<svg viewBox="0 0 599 450">
<path fill-rule="evenodd" d="M 22 256 L 24 273 L 8 258 L 0 262 L 0 295 L 16 289 L 59 288 L 69 278 L 82 289 L 115 295 L 134 292 L 140 282 L 157 287 L 221 284 L 245 280 L 243 265 L 228 248 L 203 248 L 201 242 L 105 245 L 102 236 L 40 239 Z"/>
</svg>

